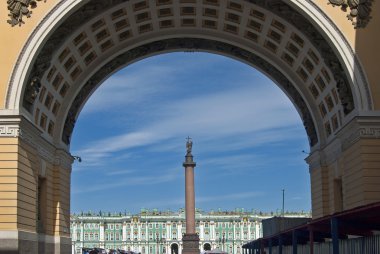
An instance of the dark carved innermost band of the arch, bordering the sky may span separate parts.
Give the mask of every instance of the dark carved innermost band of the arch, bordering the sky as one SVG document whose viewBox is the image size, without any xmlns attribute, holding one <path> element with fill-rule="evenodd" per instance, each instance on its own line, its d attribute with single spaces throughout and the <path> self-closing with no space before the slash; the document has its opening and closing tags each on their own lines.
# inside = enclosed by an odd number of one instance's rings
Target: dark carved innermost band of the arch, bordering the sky
<svg viewBox="0 0 380 254">
<path fill-rule="evenodd" d="M 178 49 L 191 51 L 205 50 L 224 53 L 244 62 L 250 63 L 262 70 L 264 73 L 270 75 L 278 83 L 278 85 L 287 92 L 299 110 L 304 127 L 309 137 L 310 146 L 314 146 L 318 143 L 317 131 L 308 106 L 300 93 L 284 74 L 277 70 L 272 64 L 252 52 L 227 43 L 199 38 L 177 38 L 155 41 L 131 49 L 102 66 L 100 70 L 85 83 L 71 104 L 71 108 L 66 116 L 62 132 L 62 141 L 67 145 L 70 144 L 71 134 L 83 103 L 87 101 L 88 97 L 92 94 L 94 89 L 96 89 L 97 85 L 110 73 L 113 73 L 121 66 L 124 66 L 126 63 L 133 62 L 136 59 L 141 59 L 158 52 Z"/>
</svg>

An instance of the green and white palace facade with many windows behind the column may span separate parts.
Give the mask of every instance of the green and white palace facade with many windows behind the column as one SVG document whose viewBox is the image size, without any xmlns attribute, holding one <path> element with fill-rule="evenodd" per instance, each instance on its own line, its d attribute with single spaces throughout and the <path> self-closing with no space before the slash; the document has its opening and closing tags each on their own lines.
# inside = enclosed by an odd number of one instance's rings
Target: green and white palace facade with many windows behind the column
<svg viewBox="0 0 380 254">
<path fill-rule="evenodd" d="M 286 216 L 310 216 L 287 214 Z M 262 237 L 261 220 L 272 214 L 235 211 L 196 211 L 201 250 L 221 249 L 241 254 L 242 245 Z M 123 249 L 141 254 L 181 254 L 186 231 L 185 211 L 141 210 L 139 214 L 84 213 L 71 216 L 73 253 L 82 247 Z"/>
</svg>

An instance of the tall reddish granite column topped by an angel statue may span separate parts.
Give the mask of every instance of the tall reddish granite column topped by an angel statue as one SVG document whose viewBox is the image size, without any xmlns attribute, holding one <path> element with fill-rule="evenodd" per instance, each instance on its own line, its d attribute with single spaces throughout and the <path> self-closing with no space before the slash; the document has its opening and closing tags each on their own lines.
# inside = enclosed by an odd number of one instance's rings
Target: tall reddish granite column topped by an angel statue
<svg viewBox="0 0 380 254">
<path fill-rule="evenodd" d="M 199 236 L 195 232 L 195 192 L 194 192 L 194 168 L 195 162 L 191 149 L 193 141 L 190 137 L 186 142 L 185 167 L 185 206 L 186 206 L 186 233 L 182 237 L 183 254 L 199 254 Z"/>
</svg>

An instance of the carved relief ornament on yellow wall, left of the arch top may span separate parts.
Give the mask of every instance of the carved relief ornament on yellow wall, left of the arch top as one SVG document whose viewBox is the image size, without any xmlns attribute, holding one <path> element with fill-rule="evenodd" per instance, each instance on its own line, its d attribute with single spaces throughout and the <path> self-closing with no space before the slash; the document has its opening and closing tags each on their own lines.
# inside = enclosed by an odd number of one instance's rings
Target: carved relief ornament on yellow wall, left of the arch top
<svg viewBox="0 0 380 254">
<path fill-rule="evenodd" d="M 9 20 L 7 22 L 11 26 L 25 24 L 25 22 L 22 20 L 22 18 L 25 16 L 27 18 L 30 18 L 30 15 L 32 14 L 32 11 L 29 10 L 29 8 L 34 9 L 37 7 L 37 1 L 42 0 L 8 0 L 8 10 L 9 10 Z M 44 0 L 46 2 L 46 0 Z"/>
</svg>

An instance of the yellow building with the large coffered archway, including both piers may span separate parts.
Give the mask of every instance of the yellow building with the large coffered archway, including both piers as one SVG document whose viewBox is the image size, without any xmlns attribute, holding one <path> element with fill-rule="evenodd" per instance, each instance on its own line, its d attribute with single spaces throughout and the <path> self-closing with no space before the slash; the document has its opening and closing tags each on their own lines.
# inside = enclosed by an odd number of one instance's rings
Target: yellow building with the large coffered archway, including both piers
<svg viewBox="0 0 380 254">
<path fill-rule="evenodd" d="M 0 3 L 0 253 L 70 253 L 70 138 L 126 65 L 205 51 L 261 70 L 310 141 L 313 218 L 380 201 L 380 3 L 10 0 Z"/>
</svg>

